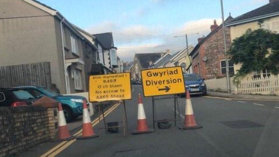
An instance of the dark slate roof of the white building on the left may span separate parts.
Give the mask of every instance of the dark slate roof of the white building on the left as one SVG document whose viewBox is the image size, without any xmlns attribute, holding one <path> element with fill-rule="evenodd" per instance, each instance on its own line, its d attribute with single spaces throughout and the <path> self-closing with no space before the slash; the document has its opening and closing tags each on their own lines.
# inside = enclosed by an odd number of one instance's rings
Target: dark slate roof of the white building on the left
<svg viewBox="0 0 279 157">
<path fill-rule="evenodd" d="M 104 49 L 114 48 L 113 37 L 111 32 L 93 34 L 93 36 L 95 36 L 100 41 Z"/>
</svg>

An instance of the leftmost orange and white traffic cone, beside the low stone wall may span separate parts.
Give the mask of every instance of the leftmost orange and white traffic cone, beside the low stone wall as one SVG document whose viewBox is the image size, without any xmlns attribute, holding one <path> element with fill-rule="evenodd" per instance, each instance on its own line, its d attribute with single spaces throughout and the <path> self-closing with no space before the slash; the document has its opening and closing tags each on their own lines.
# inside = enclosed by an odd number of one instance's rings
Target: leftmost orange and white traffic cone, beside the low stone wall
<svg viewBox="0 0 279 157">
<path fill-rule="evenodd" d="M 66 119 L 64 116 L 63 108 L 61 103 L 58 105 L 58 130 L 59 130 L 59 138 L 57 140 L 72 140 L 75 136 L 71 136 L 69 134 L 69 130 L 67 127 Z"/>
</svg>

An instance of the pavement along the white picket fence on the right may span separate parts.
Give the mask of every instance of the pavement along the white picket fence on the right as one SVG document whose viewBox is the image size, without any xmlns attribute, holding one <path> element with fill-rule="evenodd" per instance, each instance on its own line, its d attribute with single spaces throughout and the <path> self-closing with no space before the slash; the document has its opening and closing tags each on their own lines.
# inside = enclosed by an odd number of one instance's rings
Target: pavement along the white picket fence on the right
<svg viewBox="0 0 279 157">
<path fill-rule="evenodd" d="M 207 96 L 235 98 L 235 99 L 253 99 L 253 100 L 278 100 L 279 96 L 259 95 L 259 94 L 234 94 L 225 92 L 207 91 Z"/>
</svg>

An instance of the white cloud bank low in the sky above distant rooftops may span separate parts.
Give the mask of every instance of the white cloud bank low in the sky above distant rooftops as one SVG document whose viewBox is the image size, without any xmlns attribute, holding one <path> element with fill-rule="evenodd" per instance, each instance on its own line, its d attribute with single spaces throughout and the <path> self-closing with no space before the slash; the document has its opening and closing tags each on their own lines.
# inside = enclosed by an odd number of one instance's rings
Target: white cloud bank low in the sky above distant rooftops
<svg viewBox="0 0 279 157">
<path fill-rule="evenodd" d="M 195 46 L 197 38 L 210 33 L 210 25 L 213 18 L 204 18 L 194 21 L 186 21 L 175 28 L 165 28 L 160 25 L 129 25 L 120 27 L 119 24 L 106 21 L 100 25 L 86 29 L 89 33 L 112 32 L 114 44 L 117 47 L 117 55 L 124 61 L 132 61 L 135 53 L 152 53 L 170 49 L 172 53 L 186 46 L 185 33 L 188 35 L 188 43 Z M 216 19 L 220 25 L 221 18 Z M 181 37 L 174 37 L 181 36 Z"/>
</svg>

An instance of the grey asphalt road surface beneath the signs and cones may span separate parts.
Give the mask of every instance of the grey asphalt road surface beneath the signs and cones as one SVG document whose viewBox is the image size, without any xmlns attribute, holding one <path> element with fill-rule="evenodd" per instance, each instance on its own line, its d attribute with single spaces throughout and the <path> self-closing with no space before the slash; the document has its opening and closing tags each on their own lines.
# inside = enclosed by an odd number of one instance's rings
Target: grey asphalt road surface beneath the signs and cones
<svg viewBox="0 0 279 157">
<path fill-rule="evenodd" d="M 100 138 L 68 142 L 55 151 L 57 156 L 279 156 L 279 102 L 192 97 L 196 122 L 203 128 L 179 130 L 174 126 L 151 134 L 132 135 L 137 122 L 137 95 L 141 86 L 133 86 L 132 100 L 126 101 L 128 134 L 106 133 L 94 129 Z M 152 98 L 143 98 L 149 127 L 152 128 Z M 178 98 L 184 121 L 185 98 Z M 172 119 L 174 101 L 156 100 L 156 118 Z M 121 121 L 123 105 L 107 117 L 107 122 Z M 231 125 L 229 125 L 231 124 Z M 177 126 L 180 122 L 177 122 Z M 43 155 L 58 143 L 44 143 L 20 156 Z"/>
</svg>

